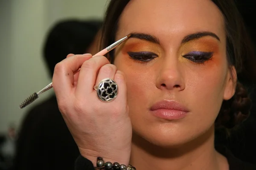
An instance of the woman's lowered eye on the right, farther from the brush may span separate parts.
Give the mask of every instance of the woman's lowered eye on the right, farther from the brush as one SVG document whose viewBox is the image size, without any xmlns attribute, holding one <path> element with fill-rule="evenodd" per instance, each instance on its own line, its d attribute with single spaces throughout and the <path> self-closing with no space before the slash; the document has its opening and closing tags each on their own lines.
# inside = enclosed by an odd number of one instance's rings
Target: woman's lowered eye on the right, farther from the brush
<svg viewBox="0 0 256 170">
<path fill-rule="evenodd" d="M 182 57 L 191 60 L 197 64 L 204 64 L 207 60 L 211 59 L 213 52 L 203 52 L 203 51 L 192 51 Z"/>
</svg>

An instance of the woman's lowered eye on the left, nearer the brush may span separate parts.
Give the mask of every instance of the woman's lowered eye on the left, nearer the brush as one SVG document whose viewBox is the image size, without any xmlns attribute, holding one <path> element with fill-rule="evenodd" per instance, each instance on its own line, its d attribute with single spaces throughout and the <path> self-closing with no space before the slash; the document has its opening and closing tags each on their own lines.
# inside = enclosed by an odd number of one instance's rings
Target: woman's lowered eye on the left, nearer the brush
<svg viewBox="0 0 256 170">
<path fill-rule="evenodd" d="M 158 57 L 157 54 L 149 51 L 140 51 L 140 52 L 127 52 L 131 59 L 137 60 L 138 62 L 147 63 L 154 58 Z"/>
</svg>

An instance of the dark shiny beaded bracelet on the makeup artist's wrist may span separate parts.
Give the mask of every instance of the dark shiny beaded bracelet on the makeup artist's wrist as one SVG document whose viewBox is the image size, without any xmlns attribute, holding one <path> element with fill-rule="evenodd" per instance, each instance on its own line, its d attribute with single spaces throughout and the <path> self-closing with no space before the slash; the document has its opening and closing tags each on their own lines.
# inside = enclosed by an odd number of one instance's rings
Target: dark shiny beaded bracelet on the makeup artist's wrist
<svg viewBox="0 0 256 170">
<path fill-rule="evenodd" d="M 135 167 L 128 165 L 125 166 L 124 164 L 119 164 L 117 162 L 114 162 L 113 164 L 111 162 L 104 162 L 102 157 L 97 158 L 97 167 L 94 167 L 96 170 L 136 170 Z"/>
</svg>

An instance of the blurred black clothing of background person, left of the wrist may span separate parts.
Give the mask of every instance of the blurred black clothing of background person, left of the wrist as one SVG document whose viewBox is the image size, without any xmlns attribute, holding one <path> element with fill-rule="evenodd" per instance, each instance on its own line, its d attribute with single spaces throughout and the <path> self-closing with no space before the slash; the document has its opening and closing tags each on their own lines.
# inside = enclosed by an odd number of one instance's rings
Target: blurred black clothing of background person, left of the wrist
<svg viewBox="0 0 256 170">
<path fill-rule="evenodd" d="M 78 147 L 52 96 L 32 108 L 17 140 L 15 170 L 73 170 Z"/>
</svg>

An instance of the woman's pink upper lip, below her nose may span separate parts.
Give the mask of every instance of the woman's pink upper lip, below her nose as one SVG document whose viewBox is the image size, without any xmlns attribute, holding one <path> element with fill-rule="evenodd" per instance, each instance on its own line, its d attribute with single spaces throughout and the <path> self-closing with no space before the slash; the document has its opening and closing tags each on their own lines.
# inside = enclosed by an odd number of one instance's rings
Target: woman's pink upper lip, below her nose
<svg viewBox="0 0 256 170">
<path fill-rule="evenodd" d="M 189 111 L 186 107 L 184 107 L 180 103 L 175 101 L 169 101 L 169 100 L 163 100 L 163 101 L 157 102 L 150 108 L 151 111 L 154 111 L 157 109 L 178 110 L 178 111 L 184 111 L 184 112 Z"/>
</svg>

